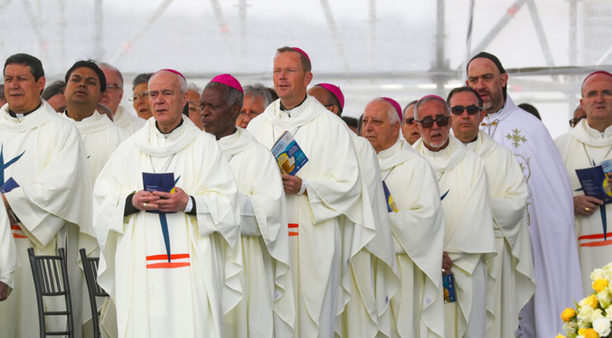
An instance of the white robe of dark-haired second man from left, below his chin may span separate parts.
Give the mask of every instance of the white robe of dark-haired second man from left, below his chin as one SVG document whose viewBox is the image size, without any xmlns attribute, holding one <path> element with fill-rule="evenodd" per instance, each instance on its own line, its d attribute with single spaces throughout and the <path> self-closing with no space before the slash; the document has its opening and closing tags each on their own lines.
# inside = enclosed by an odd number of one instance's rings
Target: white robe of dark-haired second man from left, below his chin
<svg viewBox="0 0 612 338">
<path fill-rule="evenodd" d="M 79 129 L 87 151 L 91 181 L 96 182 L 100 170 L 107 164 L 110 155 L 127 138 L 127 132 L 115 125 L 106 115 L 100 115 L 97 110 L 90 117 L 80 121 L 68 117 L 66 112 L 60 116 L 71 121 Z"/>
</svg>

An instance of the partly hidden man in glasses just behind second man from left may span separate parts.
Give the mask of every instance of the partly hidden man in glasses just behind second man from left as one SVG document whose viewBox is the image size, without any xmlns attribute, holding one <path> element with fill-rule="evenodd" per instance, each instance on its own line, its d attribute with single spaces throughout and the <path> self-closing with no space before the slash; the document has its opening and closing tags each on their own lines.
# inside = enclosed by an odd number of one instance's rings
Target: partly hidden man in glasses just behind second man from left
<svg viewBox="0 0 612 338">
<path fill-rule="evenodd" d="M 104 71 L 107 78 L 107 87 L 104 89 L 100 103 L 113 112 L 113 122 L 132 135 L 145 126 L 145 119 L 132 114 L 127 108 L 120 105 L 123 98 L 123 75 L 116 68 L 106 62 L 98 62 L 99 68 Z"/>
</svg>

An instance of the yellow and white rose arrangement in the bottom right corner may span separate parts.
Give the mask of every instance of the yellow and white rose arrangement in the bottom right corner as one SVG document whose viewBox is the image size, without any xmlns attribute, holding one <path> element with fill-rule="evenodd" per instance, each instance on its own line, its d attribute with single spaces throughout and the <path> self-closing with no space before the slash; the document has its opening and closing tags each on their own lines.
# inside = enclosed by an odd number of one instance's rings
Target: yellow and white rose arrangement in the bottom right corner
<svg viewBox="0 0 612 338">
<path fill-rule="evenodd" d="M 612 338 L 612 263 L 596 268 L 590 278 L 593 290 L 590 296 L 566 308 L 561 314 L 563 331 L 567 338 Z M 556 338 L 566 338 L 559 334 Z"/>
</svg>

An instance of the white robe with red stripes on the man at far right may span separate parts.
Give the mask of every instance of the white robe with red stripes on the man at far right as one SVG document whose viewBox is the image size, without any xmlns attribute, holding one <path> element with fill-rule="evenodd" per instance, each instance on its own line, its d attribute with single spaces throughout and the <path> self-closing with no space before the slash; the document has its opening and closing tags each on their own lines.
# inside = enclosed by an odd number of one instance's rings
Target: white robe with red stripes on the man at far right
<svg viewBox="0 0 612 338">
<path fill-rule="evenodd" d="M 583 195 L 576 169 L 585 169 L 612 160 L 612 127 L 602 133 L 588 126 L 583 118 L 570 134 L 558 139 L 557 146 L 568 174 L 574 196 Z M 576 235 L 584 295 L 593 292 L 590 274 L 612 260 L 612 229 L 607 225 L 607 238 L 604 239 L 603 221 L 599 208 L 606 208 L 606 218 L 612 218 L 612 204 L 599 206 L 590 216 L 576 215 Z M 573 210 L 573 209 L 572 209 Z M 607 221 L 607 224 L 612 222 Z"/>
</svg>

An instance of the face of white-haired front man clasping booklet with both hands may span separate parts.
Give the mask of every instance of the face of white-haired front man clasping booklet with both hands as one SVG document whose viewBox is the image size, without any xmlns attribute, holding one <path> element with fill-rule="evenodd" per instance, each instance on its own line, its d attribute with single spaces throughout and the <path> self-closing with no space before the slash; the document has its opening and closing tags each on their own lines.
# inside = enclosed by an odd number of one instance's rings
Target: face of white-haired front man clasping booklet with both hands
<svg viewBox="0 0 612 338">
<path fill-rule="evenodd" d="M 183 118 L 185 103 L 187 93 L 181 93 L 178 75 L 161 71 L 149 80 L 149 105 L 158 124 L 178 126 Z"/>
</svg>

